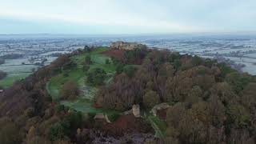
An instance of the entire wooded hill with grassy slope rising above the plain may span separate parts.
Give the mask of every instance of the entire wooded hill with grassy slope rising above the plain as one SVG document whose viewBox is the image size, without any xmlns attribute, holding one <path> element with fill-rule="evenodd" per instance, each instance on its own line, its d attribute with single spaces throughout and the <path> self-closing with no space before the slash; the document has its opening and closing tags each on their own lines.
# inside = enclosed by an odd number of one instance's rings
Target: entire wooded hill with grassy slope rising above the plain
<svg viewBox="0 0 256 144">
<path fill-rule="evenodd" d="M 85 46 L 0 93 L 0 142 L 254 143 L 255 86 L 198 56 Z"/>
</svg>

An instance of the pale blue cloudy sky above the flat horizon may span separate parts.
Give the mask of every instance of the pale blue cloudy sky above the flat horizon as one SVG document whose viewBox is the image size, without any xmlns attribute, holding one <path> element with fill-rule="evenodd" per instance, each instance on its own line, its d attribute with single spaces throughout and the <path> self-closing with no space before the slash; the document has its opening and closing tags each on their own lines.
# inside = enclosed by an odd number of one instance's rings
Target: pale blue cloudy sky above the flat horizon
<svg viewBox="0 0 256 144">
<path fill-rule="evenodd" d="M 0 34 L 256 31 L 256 0 L 0 0 Z"/>
</svg>

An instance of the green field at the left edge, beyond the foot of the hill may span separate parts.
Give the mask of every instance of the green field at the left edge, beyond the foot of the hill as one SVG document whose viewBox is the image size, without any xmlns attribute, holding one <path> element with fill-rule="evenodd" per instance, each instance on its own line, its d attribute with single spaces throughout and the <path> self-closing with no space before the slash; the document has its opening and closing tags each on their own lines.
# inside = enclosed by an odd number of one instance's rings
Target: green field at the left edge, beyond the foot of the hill
<svg viewBox="0 0 256 144">
<path fill-rule="evenodd" d="M 29 73 L 26 74 L 8 74 L 6 76 L 6 78 L 3 78 L 2 80 L 0 80 L 0 86 L 2 86 L 3 88 L 7 88 L 13 85 L 14 82 L 18 81 L 18 80 L 22 80 L 23 78 L 26 78 L 27 76 L 29 76 Z"/>
</svg>

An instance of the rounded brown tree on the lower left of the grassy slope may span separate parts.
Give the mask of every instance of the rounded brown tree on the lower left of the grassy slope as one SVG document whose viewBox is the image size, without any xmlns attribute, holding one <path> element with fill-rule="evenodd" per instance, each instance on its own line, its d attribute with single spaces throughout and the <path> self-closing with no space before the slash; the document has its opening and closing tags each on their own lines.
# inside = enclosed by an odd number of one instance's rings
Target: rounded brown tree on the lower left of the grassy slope
<svg viewBox="0 0 256 144">
<path fill-rule="evenodd" d="M 78 84 L 73 81 L 67 81 L 64 83 L 61 89 L 61 95 L 64 99 L 74 99 L 78 96 Z"/>
</svg>

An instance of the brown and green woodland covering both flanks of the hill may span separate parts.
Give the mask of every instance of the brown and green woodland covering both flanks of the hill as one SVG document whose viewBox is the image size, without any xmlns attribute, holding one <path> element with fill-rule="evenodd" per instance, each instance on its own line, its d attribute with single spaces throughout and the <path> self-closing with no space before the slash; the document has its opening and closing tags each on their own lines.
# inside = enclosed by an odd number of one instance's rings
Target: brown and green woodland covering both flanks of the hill
<svg viewBox="0 0 256 144">
<path fill-rule="evenodd" d="M 94 115 L 85 117 L 70 110 L 54 102 L 46 92 L 50 77 L 75 66 L 70 56 L 87 50 L 60 56 L 50 66 L 15 82 L 0 94 L 1 143 L 90 143 L 91 135 L 102 135 L 88 132 L 101 127 L 94 122 Z M 139 104 L 142 110 L 150 110 L 158 103 L 167 102 L 170 108 L 166 111 L 164 143 L 256 142 L 254 76 L 239 74 L 230 66 L 210 59 L 168 50 L 120 51 L 122 57 L 112 54 L 111 61 L 106 61 L 116 65 L 112 82 L 104 83 L 106 72 L 101 69 L 89 72 L 87 81 L 100 86 L 95 105 L 125 111 Z M 85 72 L 88 63 L 90 57 L 85 59 Z M 68 81 L 61 93 L 64 99 L 75 98 L 78 87 Z M 143 124 L 140 129 L 150 132 L 150 126 Z M 156 142 L 159 141 L 148 143 Z"/>
</svg>

